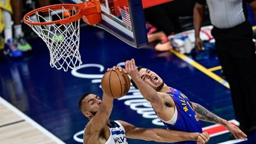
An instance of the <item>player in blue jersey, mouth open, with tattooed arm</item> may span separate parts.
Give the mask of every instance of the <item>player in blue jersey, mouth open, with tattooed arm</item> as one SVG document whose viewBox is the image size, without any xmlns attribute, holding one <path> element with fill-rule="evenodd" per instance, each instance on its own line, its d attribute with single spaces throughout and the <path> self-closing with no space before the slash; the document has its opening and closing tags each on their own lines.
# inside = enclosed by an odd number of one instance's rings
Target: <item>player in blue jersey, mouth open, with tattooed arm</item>
<svg viewBox="0 0 256 144">
<path fill-rule="evenodd" d="M 190 102 L 181 91 L 168 87 L 155 72 L 142 67 L 137 69 L 134 59 L 126 61 L 125 69 L 132 77 L 134 87 L 139 88 L 143 97 L 150 101 L 157 116 L 167 129 L 202 132 L 199 122 L 202 120 L 223 125 L 233 133 L 235 138 L 245 139 L 247 137 L 235 125 L 221 119 L 200 104 Z"/>
</svg>

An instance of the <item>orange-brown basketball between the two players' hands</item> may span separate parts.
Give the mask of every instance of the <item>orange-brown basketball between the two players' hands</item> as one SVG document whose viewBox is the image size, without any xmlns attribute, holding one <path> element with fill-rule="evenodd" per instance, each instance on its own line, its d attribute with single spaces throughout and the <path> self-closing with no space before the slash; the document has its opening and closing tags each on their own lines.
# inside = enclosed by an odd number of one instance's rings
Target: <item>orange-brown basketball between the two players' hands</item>
<svg viewBox="0 0 256 144">
<path fill-rule="evenodd" d="M 113 98 L 121 98 L 126 95 L 130 89 L 130 79 L 119 69 L 109 70 L 101 78 L 101 88 L 104 93 Z"/>
</svg>

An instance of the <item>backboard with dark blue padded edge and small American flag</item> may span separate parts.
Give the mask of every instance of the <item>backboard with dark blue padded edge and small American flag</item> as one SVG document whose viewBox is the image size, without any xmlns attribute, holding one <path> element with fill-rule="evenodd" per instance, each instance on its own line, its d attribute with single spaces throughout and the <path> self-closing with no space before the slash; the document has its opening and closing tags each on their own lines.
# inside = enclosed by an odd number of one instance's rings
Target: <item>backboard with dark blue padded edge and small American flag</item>
<svg viewBox="0 0 256 144">
<path fill-rule="evenodd" d="M 78 4 L 85 0 L 60 0 Z M 147 46 L 148 38 L 141 0 L 100 0 L 101 17 L 96 27 L 103 28 L 135 48 Z"/>
</svg>

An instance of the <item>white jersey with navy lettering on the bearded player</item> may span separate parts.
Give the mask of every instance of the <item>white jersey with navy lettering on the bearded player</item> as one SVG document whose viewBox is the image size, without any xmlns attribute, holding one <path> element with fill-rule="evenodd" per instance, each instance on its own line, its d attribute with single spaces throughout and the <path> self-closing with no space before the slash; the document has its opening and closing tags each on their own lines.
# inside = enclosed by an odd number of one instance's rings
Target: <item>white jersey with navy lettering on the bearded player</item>
<svg viewBox="0 0 256 144">
<path fill-rule="evenodd" d="M 128 144 L 126 141 L 126 130 L 117 121 L 111 121 L 108 125 L 110 135 L 105 144 Z"/>
</svg>

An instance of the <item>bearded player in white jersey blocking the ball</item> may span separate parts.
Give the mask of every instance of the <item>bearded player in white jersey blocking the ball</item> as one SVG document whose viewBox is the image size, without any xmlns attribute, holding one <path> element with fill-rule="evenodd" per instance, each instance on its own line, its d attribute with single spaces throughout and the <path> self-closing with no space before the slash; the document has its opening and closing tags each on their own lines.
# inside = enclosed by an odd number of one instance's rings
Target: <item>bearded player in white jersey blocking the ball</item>
<svg viewBox="0 0 256 144">
<path fill-rule="evenodd" d="M 116 69 L 116 67 L 113 67 L 113 69 Z M 117 69 L 124 70 L 121 67 Z M 168 143 L 187 140 L 207 143 L 210 139 L 208 133 L 144 129 L 124 121 L 109 121 L 113 109 L 113 98 L 106 95 L 106 93 L 103 93 L 102 101 L 98 95 L 93 93 L 83 95 L 79 100 L 79 109 L 90 120 L 85 127 L 84 144 L 127 144 L 126 138 Z"/>
</svg>

